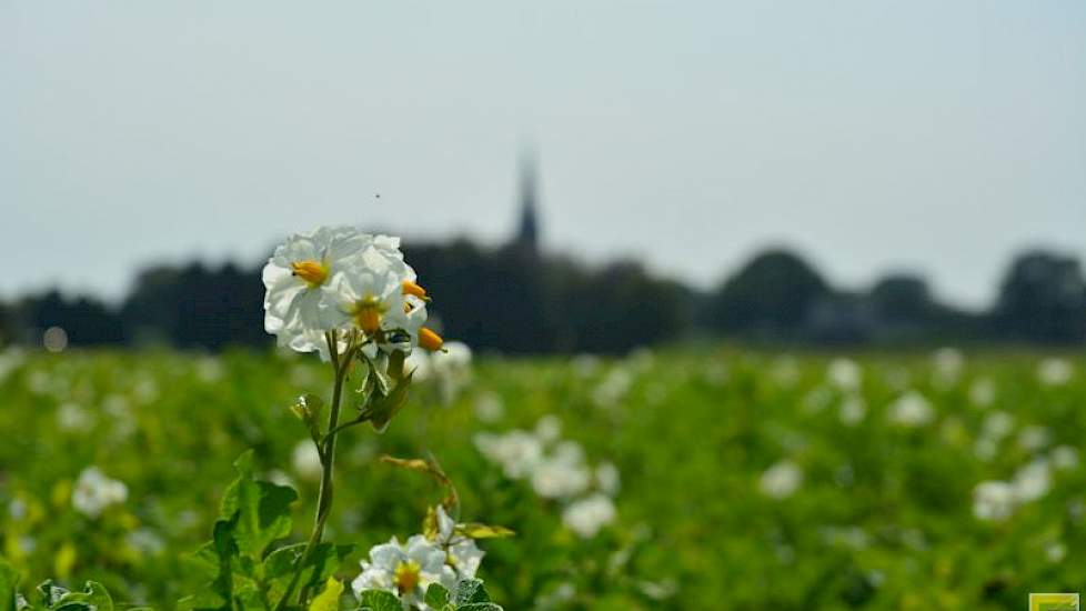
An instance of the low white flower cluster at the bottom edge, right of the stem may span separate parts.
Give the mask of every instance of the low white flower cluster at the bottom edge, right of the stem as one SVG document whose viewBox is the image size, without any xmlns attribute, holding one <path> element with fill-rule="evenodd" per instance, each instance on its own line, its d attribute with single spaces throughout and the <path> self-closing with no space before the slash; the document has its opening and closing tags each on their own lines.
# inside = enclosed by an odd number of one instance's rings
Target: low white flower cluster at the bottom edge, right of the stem
<svg viewBox="0 0 1086 611">
<path fill-rule="evenodd" d="M 435 519 L 434 532 L 412 535 L 404 543 L 393 537 L 373 547 L 370 559 L 362 561 L 362 573 L 351 583 L 355 594 L 385 590 L 405 608 L 428 610 L 424 597 L 430 584 L 454 590 L 460 581 L 474 579 L 484 552 L 457 530 L 443 507 L 438 507 Z"/>
</svg>

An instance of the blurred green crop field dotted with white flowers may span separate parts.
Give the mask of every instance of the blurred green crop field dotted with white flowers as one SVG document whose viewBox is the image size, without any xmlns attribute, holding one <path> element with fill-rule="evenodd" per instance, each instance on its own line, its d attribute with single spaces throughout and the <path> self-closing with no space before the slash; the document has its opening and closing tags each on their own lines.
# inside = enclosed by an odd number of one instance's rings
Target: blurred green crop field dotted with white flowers
<svg viewBox="0 0 1086 611">
<path fill-rule="evenodd" d="M 346 583 L 445 493 L 392 455 L 516 532 L 479 541 L 510 610 L 1024 609 L 1086 585 L 1077 355 L 445 357 L 385 432 L 340 435 Z M 0 555 L 23 584 L 172 609 L 249 449 L 299 490 L 304 541 L 321 468 L 289 408 L 330 382 L 286 353 L 0 353 Z"/>
</svg>

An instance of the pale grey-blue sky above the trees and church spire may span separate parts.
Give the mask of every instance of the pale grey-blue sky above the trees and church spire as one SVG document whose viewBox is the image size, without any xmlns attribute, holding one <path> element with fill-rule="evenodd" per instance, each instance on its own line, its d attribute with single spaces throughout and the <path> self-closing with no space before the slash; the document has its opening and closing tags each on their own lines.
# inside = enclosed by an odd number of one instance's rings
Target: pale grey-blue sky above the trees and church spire
<svg viewBox="0 0 1086 611">
<path fill-rule="evenodd" d="M 700 286 L 786 243 L 981 306 L 1086 257 L 1086 2 L 887 4 L 0 0 L 0 298 L 321 223 L 496 243 L 525 144 L 547 249 Z"/>
</svg>

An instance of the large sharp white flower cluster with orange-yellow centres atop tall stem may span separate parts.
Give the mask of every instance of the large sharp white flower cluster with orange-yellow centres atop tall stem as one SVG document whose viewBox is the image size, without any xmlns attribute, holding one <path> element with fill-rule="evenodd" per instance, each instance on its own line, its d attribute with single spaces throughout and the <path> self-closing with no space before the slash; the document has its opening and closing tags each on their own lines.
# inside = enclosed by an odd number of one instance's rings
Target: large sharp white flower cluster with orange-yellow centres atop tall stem
<svg viewBox="0 0 1086 611">
<path fill-rule="evenodd" d="M 415 345 L 439 350 L 442 339 L 423 327 L 429 300 L 416 279 L 399 238 L 352 227 L 298 233 L 264 266 L 264 329 L 280 345 L 324 360 L 330 337 L 339 348 L 358 338 L 370 359 Z"/>
</svg>

